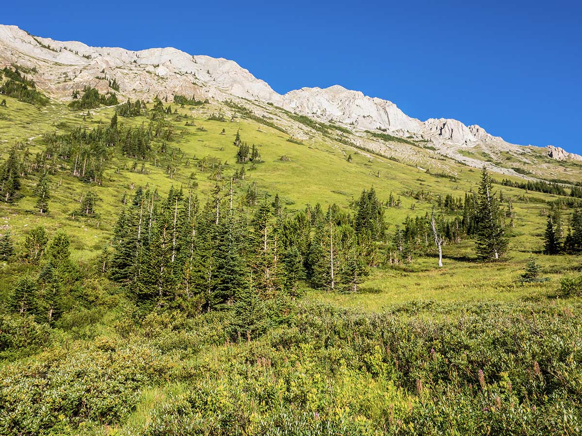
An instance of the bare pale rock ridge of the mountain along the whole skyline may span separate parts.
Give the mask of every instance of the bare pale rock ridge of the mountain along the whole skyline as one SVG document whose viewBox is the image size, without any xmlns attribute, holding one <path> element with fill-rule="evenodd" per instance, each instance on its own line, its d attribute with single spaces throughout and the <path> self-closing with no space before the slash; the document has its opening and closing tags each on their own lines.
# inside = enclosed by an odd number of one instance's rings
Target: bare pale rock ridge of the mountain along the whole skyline
<svg viewBox="0 0 582 436">
<path fill-rule="evenodd" d="M 553 167 L 548 160 L 552 159 L 582 162 L 582 156 L 558 152 L 555 148 L 544 150 L 510 144 L 480 126 L 465 126 L 458 120 L 421 121 L 407 116 L 391 101 L 368 97 L 339 85 L 325 89 L 301 88 L 280 95 L 232 60 L 193 56 L 175 48 L 130 51 L 89 47 L 77 41 L 36 37 L 17 26 L 5 25 L 0 25 L 0 47 L 0 65 L 36 67 L 38 72 L 33 76 L 38 87 L 63 101 L 69 101 L 74 90 L 86 85 L 107 92 L 109 80 L 115 78 L 122 98 L 151 99 L 155 95 L 172 98 L 179 94 L 219 102 L 235 98 L 243 105 L 269 103 L 322 123 L 340 124 L 355 135 L 351 140 L 354 144 L 384 155 L 396 154 L 415 165 L 427 166 L 431 161 L 427 160 L 426 153 L 404 146 L 406 142 L 420 141 L 424 148 L 435 149 L 440 155 L 466 165 L 488 165 L 513 175 L 547 176 Z M 269 116 L 264 106 L 254 110 L 260 116 Z M 289 127 L 294 135 L 303 135 L 296 126 Z M 377 135 L 366 137 L 366 131 Z M 382 133 L 406 141 L 379 142 L 378 134 Z M 540 156 L 550 159 L 538 162 Z M 524 168 L 516 172 L 515 168 L 521 166 Z"/>
</svg>

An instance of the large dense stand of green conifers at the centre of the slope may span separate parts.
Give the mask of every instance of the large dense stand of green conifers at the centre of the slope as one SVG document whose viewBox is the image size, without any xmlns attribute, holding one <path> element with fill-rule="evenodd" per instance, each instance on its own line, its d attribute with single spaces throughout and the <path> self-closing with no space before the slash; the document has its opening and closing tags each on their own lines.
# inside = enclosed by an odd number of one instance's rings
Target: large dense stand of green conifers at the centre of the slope
<svg viewBox="0 0 582 436">
<path fill-rule="evenodd" d="M 171 188 L 161 198 L 138 188 L 128 206 L 103 253 L 103 273 L 140 305 L 197 312 L 297 295 L 303 280 L 357 291 L 374 263 L 372 235 L 383 232 L 373 190 L 363 194 L 357 220 L 336 205 L 287 216 L 278 197 L 266 196 L 249 216 L 233 204 L 232 189 L 222 196 L 218 185 L 205 205 L 192 192 Z"/>
</svg>

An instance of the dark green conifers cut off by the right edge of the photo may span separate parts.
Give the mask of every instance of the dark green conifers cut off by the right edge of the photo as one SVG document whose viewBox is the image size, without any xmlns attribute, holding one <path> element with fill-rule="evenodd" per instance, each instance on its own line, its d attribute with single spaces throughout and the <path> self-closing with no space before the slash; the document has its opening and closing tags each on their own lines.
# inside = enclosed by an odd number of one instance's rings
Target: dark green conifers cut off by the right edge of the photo
<svg viewBox="0 0 582 436">
<path fill-rule="evenodd" d="M 549 255 L 582 253 L 582 212 L 580 209 L 574 209 L 572 212 L 567 233 L 562 224 L 562 211 L 557 207 L 550 210 L 544 234 L 544 252 Z"/>
</svg>

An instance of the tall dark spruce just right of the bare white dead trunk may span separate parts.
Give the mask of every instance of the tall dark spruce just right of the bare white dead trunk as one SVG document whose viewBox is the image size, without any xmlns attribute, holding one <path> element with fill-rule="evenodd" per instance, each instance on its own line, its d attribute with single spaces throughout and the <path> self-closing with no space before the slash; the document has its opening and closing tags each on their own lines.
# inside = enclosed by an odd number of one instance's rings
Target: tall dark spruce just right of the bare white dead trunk
<svg viewBox="0 0 582 436">
<path fill-rule="evenodd" d="M 493 182 L 483 167 L 478 191 L 477 255 L 481 260 L 497 260 L 508 247 L 505 228 L 501 220 L 498 199 L 493 192 Z"/>
</svg>

